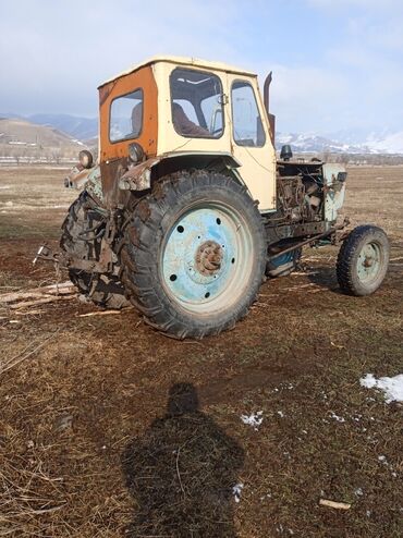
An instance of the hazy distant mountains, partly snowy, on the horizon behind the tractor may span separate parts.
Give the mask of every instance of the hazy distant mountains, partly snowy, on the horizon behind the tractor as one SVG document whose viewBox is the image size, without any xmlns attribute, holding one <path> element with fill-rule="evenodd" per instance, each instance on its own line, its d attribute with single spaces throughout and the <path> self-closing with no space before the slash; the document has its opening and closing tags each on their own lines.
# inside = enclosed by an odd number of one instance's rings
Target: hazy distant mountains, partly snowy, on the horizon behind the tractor
<svg viewBox="0 0 403 538">
<path fill-rule="evenodd" d="M 94 142 L 98 136 L 98 120 L 70 114 L 37 113 L 27 117 L 0 114 L 0 118 L 21 119 L 30 123 L 56 129 L 76 142 Z M 291 145 L 295 152 L 403 155 L 403 131 L 391 132 L 344 130 L 335 133 L 277 133 L 276 145 Z"/>
</svg>

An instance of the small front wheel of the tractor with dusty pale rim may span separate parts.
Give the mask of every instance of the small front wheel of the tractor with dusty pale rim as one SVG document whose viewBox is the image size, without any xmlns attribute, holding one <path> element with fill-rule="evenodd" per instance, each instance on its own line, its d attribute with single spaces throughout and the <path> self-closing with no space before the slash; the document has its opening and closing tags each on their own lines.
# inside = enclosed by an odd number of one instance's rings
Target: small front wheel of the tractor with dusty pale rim
<svg viewBox="0 0 403 538">
<path fill-rule="evenodd" d="M 340 288 L 351 295 L 370 295 L 382 283 L 389 265 L 389 241 L 380 228 L 355 228 L 342 244 L 337 262 Z"/>
</svg>

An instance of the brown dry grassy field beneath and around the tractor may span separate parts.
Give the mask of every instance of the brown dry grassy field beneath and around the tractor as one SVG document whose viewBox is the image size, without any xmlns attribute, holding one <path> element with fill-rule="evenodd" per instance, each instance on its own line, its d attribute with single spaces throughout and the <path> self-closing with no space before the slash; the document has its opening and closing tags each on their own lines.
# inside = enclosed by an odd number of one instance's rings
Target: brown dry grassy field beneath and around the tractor
<svg viewBox="0 0 403 538">
<path fill-rule="evenodd" d="M 359 384 L 403 374 L 403 168 L 349 172 L 344 212 L 391 240 L 370 297 L 339 292 L 325 247 L 202 342 L 76 298 L 0 309 L 0 370 L 24 358 L 0 372 L 0 536 L 403 535 L 403 407 Z M 0 169 L 0 293 L 54 282 L 32 259 L 57 245 L 64 173 Z"/>
</svg>

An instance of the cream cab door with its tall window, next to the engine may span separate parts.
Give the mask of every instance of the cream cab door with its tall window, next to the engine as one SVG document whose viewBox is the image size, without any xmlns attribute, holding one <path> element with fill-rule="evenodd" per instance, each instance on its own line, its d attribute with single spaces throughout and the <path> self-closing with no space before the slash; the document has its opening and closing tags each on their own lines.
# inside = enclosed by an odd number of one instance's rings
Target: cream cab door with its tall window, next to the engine
<svg viewBox="0 0 403 538">
<path fill-rule="evenodd" d="M 259 211 L 276 209 L 276 152 L 256 78 L 229 74 L 232 152 Z"/>
</svg>

